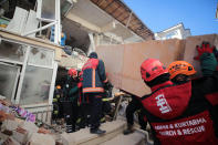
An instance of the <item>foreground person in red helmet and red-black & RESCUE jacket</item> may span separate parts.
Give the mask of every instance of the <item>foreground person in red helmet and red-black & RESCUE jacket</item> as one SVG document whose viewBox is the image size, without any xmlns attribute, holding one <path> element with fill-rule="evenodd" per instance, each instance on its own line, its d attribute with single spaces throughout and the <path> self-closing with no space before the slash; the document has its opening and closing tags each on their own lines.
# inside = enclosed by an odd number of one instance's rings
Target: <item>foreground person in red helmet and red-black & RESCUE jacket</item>
<svg viewBox="0 0 218 145">
<path fill-rule="evenodd" d="M 204 97 L 218 91 L 218 73 L 175 85 L 167 69 L 156 59 L 141 65 L 152 93 L 142 97 L 155 144 L 218 144 L 218 120 Z"/>
</svg>

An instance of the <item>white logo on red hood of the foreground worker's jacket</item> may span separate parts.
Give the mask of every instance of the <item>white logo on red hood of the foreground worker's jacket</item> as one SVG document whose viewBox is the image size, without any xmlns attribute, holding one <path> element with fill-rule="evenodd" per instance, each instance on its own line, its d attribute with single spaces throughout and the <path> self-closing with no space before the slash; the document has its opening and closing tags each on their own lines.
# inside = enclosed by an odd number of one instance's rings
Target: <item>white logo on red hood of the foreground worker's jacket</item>
<svg viewBox="0 0 218 145">
<path fill-rule="evenodd" d="M 162 114 L 168 113 L 172 111 L 172 107 L 167 103 L 164 94 L 159 94 L 155 97 L 157 106 L 159 107 L 159 111 Z"/>
</svg>

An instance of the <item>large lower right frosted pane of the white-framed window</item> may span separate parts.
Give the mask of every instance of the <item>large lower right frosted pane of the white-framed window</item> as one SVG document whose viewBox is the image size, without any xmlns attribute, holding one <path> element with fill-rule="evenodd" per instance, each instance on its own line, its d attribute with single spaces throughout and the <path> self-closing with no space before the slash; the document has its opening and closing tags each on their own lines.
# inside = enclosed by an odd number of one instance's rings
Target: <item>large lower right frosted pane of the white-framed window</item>
<svg viewBox="0 0 218 145">
<path fill-rule="evenodd" d="M 38 104 L 49 102 L 52 69 L 27 66 L 20 104 Z"/>
</svg>

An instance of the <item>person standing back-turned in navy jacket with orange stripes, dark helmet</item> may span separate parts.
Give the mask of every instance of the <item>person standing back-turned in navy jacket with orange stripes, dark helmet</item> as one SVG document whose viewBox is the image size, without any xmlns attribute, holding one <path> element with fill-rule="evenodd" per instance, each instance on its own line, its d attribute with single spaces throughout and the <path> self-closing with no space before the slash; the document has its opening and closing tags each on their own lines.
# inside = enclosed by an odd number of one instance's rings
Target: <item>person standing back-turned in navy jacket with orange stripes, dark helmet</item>
<svg viewBox="0 0 218 145">
<path fill-rule="evenodd" d="M 92 52 L 87 62 L 83 65 L 83 93 L 91 104 L 90 132 L 92 134 L 104 134 L 106 131 L 100 130 L 102 114 L 102 95 L 104 86 L 108 85 L 105 74 L 104 62 L 97 59 L 97 53 Z"/>
</svg>

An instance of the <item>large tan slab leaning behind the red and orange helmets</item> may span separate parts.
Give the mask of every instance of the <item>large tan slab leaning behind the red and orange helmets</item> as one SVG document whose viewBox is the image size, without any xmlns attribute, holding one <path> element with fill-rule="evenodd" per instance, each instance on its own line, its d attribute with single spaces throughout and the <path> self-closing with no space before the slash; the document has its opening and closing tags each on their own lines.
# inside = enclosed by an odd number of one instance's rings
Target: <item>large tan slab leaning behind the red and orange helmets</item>
<svg viewBox="0 0 218 145">
<path fill-rule="evenodd" d="M 193 60 L 197 55 L 196 45 L 209 41 L 218 45 L 216 34 L 190 37 L 186 40 L 146 41 L 142 43 L 100 45 L 96 52 L 105 62 L 108 79 L 117 89 L 143 96 L 150 93 L 141 77 L 139 68 L 144 60 L 154 58 L 160 60 L 166 66 L 176 60 L 191 63 L 200 74 L 199 62 Z"/>
</svg>

